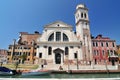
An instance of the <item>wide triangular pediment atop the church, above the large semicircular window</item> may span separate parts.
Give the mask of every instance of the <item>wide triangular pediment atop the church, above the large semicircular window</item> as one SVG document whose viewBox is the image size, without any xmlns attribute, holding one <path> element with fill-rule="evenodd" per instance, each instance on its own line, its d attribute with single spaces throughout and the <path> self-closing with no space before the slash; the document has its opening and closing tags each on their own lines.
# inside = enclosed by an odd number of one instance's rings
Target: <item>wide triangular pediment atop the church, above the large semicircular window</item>
<svg viewBox="0 0 120 80">
<path fill-rule="evenodd" d="M 68 27 L 68 28 L 72 28 L 71 25 L 64 23 L 62 21 L 55 21 L 53 23 L 50 23 L 48 25 L 45 25 L 45 28 L 58 28 L 58 27 Z"/>
</svg>

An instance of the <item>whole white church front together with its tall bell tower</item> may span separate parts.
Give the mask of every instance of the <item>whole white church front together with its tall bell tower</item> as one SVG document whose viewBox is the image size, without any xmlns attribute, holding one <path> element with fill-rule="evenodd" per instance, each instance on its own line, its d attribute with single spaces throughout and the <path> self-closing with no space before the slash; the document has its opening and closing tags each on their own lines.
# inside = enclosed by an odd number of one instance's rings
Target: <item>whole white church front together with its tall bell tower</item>
<svg viewBox="0 0 120 80">
<path fill-rule="evenodd" d="M 36 63 L 47 64 L 90 64 L 92 46 L 89 28 L 88 9 L 79 4 L 75 12 L 76 31 L 62 21 L 44 26 L 37 39 Z"/>
</svg>

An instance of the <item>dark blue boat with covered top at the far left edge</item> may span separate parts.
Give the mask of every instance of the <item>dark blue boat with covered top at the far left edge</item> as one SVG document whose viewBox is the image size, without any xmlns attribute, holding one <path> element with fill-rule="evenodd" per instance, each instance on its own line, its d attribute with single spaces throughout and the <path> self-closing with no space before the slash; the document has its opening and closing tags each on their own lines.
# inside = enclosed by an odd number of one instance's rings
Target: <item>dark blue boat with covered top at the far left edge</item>
<svg viewBox="0 0 120 80">
<path fill-rule="evenodd" d="M 6 67 L 0 67 L 0 76 L 12 76 L 14 75 L 13 71 Z"/>
</svg>

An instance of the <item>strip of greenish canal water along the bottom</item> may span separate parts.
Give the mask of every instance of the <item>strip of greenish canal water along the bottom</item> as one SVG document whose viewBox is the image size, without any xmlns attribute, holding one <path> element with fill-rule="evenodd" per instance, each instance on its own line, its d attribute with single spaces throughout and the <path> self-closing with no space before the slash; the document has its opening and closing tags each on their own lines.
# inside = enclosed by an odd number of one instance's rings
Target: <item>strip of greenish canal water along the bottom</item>
<svg viewBox="0 0 120 80">
<path fill-rule="evenodd" d="M 50 74 L 40 76 L 0 76 L 0 78 L 47 78 L 47 79 L 80 79 L 80 78 L 120 78 L 120 74 Z"/>
</svg>

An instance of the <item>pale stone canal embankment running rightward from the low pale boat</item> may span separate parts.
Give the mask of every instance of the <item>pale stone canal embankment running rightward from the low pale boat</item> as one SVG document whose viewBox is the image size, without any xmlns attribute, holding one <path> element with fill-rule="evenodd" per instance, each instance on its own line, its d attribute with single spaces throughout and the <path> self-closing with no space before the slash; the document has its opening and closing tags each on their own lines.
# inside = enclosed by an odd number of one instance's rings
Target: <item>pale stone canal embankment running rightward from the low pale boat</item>
<svg viewBox="0 0 120 80">
<path fill-rule="evenodd" d="M 113 73 L 120 73 L 120 66 L 112 66 L 112 65 L 96 65 L 94 67 L 91 66 L 79 66 L 76 67 L 75 65 L 72 67 L 69 67 L 69 69 L 65 66 L 62 67 L 63 70 L 59 70 L 57 68 L 52 68 L 52 73 L 70 73 L 70 74 L 113 74 Z"/>
</svg>

